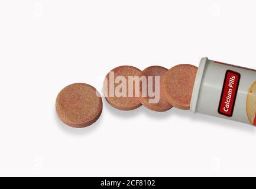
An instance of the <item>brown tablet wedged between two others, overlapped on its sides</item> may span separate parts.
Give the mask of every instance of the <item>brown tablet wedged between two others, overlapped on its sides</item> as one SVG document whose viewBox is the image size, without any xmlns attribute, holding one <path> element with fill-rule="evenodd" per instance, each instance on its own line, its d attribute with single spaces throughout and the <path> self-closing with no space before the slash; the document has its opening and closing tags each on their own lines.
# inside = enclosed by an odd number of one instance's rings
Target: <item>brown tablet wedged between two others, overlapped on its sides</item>
<svg viewBox="0 0 256 189">
<path fill-rule="evenodd" d="M 161 66 L 150 66 L 140 74 L 140 97 L 138 100 L 142 105 L 156 112 L 165 112 L 173 107 L 160 92 L 160 82 L 166 71 L 168 70 Z"/>
</svg>

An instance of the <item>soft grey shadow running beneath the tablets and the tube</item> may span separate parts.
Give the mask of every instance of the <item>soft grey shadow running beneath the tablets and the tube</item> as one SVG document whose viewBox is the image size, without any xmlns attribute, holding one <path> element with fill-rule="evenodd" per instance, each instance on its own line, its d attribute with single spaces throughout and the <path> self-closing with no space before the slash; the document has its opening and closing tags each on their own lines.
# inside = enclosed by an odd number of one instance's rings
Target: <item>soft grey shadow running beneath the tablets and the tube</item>
<svg viewBox="0 0 256 189">
<path fill-rule="evenodd" d="M 246 125 L 243 123 L 239 122 L 234 122 L 231 120 L 226 120 L 226 119 L 219 119 L 213 116 L 208 116 L 208 115 L 202 115 L 200 113 L 193 114 L 189 112 L 189 110 L 179 110 L 176 109 L 175 107 L 171 108 L 170 110 L 167 110 L 166 112 L 154 112 L 152 110 L 147 109 L 144 106 L 138 107 L 135 110 L 130 110 L 130 111 L 122 111 L 115 109 L 111 105 L 106 102 L 105 98 L 102 98 L 103 101 L 103 111 L 101 117 L 92 125 L 87 126 L 85 128 L 72 128 L 70 126 L 65 125 L 59 117 L 57 116 L 56 113 L 56 108 L 53 106 L 54 109 L 54 118 L 56 120 L 57 125 L 67 133 L 71 133 L 73 135 L 89 135 L 91 132 L 94 132 L 96 129 L 98 129 L 101 125 L 103 125 L 102 122 L 102 117 L 104 116 L 104 111 L 111 112 L 113 115 L 118 116 L 119 118 L 124 118 L 124 119 L 129 119 L 129 118 L 135 118 L 136 116 L 139 116 L 141 114 L 144 114 L 148 116 L 148 118 L 153 118 L 153 119 L 168 119 L 170 116 L 177 116 L 180 119 L 190 119 L 191 123 L 196 124 L 196 122 L 203 122 L 203 123 L 213 123 L 215 126 L 225 126 L 226 128 L 230 129 L 238 129 L 243 132 L 249 132 L 249 133 L 255 133 L 255 128 L 250 125 Z M 104 108 L 105 107 L 105 108 Z M 105 110 L 104 110 L 105 109 Z"/>
</svg>

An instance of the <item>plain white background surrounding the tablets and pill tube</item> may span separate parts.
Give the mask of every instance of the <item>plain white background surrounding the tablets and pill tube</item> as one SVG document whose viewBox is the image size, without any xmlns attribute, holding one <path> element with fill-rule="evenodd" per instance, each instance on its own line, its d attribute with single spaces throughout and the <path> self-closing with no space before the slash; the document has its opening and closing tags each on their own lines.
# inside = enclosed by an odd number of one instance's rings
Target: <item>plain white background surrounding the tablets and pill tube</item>
<svg viewBox="0 0 256 189">
<path fill-rule="evenodd" d="M 0 1 L 0 175 L 256 176 L 256 129 L 189 111 L 112 108 L 73 129 L 55 99 L 116 66 L 201 57 L 256 69 L 255 1 Z"/>
</svg>

